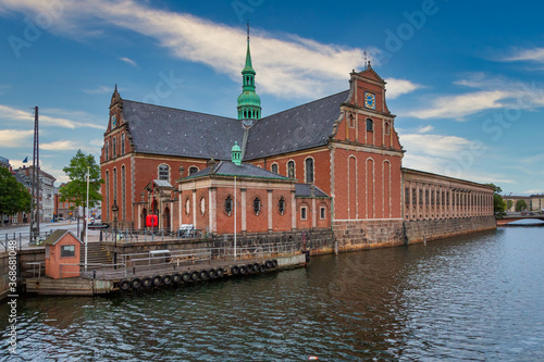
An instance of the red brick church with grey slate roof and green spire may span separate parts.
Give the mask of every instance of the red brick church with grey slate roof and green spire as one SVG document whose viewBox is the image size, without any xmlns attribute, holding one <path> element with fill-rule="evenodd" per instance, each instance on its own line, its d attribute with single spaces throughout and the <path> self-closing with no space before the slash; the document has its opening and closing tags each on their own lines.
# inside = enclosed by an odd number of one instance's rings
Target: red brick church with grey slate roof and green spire
<svg viewBox="0 0 544 362">
<path fill-rule="evenodd" d="M 349 89 L 267 117 L 249 38 L 242 75 L 237 118 L 125 100 L 115 87 L 100 158 L 102 220 L 114 220 L 115 203 L 123 227 L 144 228 L 154 213 L 161 228 L 233 234 L 236 214 L 237 233 L 332 227 L 347 244 L 403 242 L 412 192 L 403 189 L 385 82 L 370 62 L 349 74 Z"/>
</svg>

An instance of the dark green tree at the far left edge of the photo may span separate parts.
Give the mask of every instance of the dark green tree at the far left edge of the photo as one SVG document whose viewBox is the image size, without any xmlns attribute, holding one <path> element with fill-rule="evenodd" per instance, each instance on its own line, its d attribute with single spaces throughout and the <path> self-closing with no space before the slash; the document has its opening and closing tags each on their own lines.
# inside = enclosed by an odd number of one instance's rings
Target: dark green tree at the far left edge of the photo
<svg viewBox="0 0 544 362">
<path fill-rule="evenodd" d="M 5 167 L 0 167 L 0 215 L 30 212 L 30 194 Z"/>
</svg>

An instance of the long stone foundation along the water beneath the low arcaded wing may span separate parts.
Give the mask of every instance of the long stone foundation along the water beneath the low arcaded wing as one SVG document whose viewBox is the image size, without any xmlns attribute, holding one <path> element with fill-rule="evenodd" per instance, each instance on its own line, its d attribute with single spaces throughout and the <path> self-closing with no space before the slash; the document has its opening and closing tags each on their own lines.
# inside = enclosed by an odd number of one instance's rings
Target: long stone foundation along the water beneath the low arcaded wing
<svg viewBox="0 0 544 362">
<path fill-rule="evenodd" d="M 496 227 L 495 216 L 404 222 L 407 244 L 422 242 L 423 238 L 429 241 L 456 235 L 491 230 Z"/>
</svg>

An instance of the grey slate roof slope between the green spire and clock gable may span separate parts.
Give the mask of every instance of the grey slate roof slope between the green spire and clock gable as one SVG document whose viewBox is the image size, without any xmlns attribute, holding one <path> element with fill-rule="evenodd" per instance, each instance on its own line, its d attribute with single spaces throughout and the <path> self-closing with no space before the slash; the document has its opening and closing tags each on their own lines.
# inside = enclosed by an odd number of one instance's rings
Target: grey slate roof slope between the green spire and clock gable
<svg viewBox="0 0 544 362">
<path fill-rule="evenodd" d="M 245 161 L 324 146 L 349 90 L 295 107 L 249 128 Z"/>
</svg>

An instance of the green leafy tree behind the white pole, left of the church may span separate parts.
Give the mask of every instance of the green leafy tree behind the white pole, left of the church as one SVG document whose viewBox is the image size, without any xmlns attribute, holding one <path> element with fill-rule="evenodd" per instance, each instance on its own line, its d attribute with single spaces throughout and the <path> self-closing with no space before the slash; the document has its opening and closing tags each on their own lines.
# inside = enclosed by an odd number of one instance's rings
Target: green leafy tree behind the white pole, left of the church
<svg viewBox="0 0 544 362">
<path fill-rule="evenodd" d="M 92 154 L 85 154 L 82 150 L 77 150 L 77 153 L 70 161 L 70 166 L 62 168 L 69 176 L 70 183 L 59 189 L 61 202 L 74 202 L 76 207 L 87 205 L 87 170 L 89 172 L 89 208 L 96 207 L 102 200 L 100 185 L 103 184 L 103 179 L 100 178 L 100 166 L 96 163 Z M 87 223 L 85 209 L 83 220 L 83 229 L 85 230 Z"/>
</svg>

